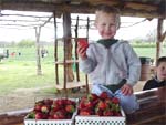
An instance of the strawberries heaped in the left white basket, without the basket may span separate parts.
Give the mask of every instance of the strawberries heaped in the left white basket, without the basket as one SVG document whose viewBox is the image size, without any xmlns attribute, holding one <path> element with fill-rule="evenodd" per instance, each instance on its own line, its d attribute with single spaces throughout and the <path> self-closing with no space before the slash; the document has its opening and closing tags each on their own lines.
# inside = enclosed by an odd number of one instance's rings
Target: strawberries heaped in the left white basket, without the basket
<svg viewBox="0 0 166 125">
<path fill-rule="evenodd" d="M 71 119 L 76 111 L 76 103 L 69 98 L 42 100 L 35 103 L 28 118 L 33 119 Z"/>
</svg>

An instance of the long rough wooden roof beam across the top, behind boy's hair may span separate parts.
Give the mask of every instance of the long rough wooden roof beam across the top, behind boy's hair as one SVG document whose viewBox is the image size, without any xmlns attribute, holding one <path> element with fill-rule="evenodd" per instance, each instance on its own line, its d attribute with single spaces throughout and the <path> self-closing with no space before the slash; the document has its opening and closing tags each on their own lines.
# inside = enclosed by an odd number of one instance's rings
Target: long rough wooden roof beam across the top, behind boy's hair
<svg viewBox="0 0 166 125">
<path fill-rule="evenodd" d="M 94 0 L 92 0 L 94 1 Z M 89 1 L 90 3 L 83 2 L 80 4 L 53 4 L 53 3 L 46 3 L 46 2 L 0 2 L 0 9 L 1 10 L 19 10 L 19 11 L 41 11 L 41 12 L 54 12 L 56 11 L 60 15 L 63 11 L 68 10 L 71 13 L 94 13 L 94 10 L 96 6 L 101 2 L 97 1 Z M 122 15 L 136 15 L 142 18 L 162 18 L 165 17 L 165 12 L 162 14 L 157 10 L 159 7 L 155 6 L 147 6 L 147 4 L 138 4 L 138 3 L 132 3 L 127 2 L 117 2 L 115 0 L 107 1 L 104 0 L 102 2 L 105 2 L 110 6 L 114 6 L 120 8 L 122 10 Z M 136 7 L 133 8 L 132 6 Z"/>
</svg>

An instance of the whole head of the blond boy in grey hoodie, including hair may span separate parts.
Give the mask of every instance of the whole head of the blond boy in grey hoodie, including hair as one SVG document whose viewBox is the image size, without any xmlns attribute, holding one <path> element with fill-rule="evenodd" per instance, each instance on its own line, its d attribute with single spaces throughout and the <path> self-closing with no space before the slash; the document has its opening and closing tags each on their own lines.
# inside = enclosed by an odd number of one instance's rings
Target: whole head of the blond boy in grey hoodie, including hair
<svg viewBox="0 0 166 125">
<path fill-rule="evenodd" d="M 102 39 L 113 39 L 120 28 L 120 11 L 116 8 L 101 4 L 95 14 L 95 27 Z"/>
</svg>

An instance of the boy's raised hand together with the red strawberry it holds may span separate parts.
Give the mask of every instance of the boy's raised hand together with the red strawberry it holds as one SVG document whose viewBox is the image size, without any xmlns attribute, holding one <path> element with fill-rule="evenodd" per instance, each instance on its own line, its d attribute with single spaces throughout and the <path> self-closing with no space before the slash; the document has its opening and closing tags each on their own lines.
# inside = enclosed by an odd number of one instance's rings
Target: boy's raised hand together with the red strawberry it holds
<svg viewBox="0 0 166 125">
<path fill-rule="evenodd" d="M 82 60 L 87 58 L 87 55 L 86 55 L 86 49 L 87 48 L 89 48 L 87 41 L 85 39 L 79 39 L 79 41 L 77 41 L 77 53 Z"/>
</svg>

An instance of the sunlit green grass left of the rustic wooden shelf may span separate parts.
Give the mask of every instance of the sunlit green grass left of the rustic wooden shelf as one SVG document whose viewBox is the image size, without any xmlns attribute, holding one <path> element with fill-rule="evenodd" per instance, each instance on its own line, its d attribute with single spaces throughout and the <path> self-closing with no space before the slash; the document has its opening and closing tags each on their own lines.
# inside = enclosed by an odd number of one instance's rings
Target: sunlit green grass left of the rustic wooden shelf
<svg viewBox="0 0 166 125">
<path fill-rule="evenodd" d="M 7 94 L 17 88 L 34 88 L 54 85 L 54 65 L 44 64 L 43 74 L 37 75 L 35 62 L 12 61 L 0 63 L 0 94 Z"/>
</svg>

